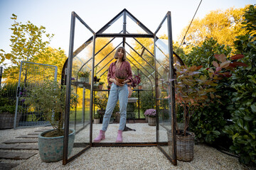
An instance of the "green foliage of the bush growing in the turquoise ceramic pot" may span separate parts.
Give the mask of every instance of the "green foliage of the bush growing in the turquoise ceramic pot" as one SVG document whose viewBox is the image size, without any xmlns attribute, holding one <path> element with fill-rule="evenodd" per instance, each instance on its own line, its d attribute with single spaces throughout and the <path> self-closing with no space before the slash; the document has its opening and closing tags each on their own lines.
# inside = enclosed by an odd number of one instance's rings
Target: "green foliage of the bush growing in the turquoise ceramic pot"
<svg viewBox="0 0 256 170">
<path fill-rule="evenodd" d="M 63 115 L 65 111 L 65 86 L 59 86 L 56 81 L 45 80 L 42 84 L 34 86 L 23 99 L 29 105 L 29 109 L 43 113 L 43 118 L 48 120 L 53 129 L 60 135 L 63 127 Z M 70 107 L 78 103 L 78 96 L 70 94 Z"/>
</svg>

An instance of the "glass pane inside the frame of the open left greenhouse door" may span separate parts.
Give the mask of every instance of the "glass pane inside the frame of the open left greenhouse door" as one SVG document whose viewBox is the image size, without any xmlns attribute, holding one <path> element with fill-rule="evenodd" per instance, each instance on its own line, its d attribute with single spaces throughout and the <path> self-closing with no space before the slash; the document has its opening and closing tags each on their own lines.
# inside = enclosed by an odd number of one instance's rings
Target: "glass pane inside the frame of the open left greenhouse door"
<svg viewBox="0 0 256 170">
<path fill-rule="evenodd" d="M 90 143 L 90 84 L 92 83 L 93 50 L 92 37 L 93 34 L 90 32 L 90 30 L 88 30 L 76 18 L 70 103 L 73 101 L 73 95 L 78 96 L 78 103 L 70 107 L 69 125 L 70 128 L 75 129 L 76 133 L 73 151 L 68 158 L 78 154 L 78 152 L 82 151 L 82 149 L 89 146 Z"/>
</svg>

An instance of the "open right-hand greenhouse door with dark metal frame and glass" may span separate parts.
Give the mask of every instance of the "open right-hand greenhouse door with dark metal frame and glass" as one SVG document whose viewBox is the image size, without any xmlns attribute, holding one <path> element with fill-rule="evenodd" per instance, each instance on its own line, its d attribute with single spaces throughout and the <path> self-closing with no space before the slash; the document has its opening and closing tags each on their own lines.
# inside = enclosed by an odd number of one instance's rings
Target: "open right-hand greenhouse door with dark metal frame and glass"
<svg viewBox="0 0 256 170">
<path fill-rule="evenodd" d="M 166 157 L 176 165 L 174 57 L 169 11 L 154 33 L 156 63 L 156 142 Z"/>
</svg>

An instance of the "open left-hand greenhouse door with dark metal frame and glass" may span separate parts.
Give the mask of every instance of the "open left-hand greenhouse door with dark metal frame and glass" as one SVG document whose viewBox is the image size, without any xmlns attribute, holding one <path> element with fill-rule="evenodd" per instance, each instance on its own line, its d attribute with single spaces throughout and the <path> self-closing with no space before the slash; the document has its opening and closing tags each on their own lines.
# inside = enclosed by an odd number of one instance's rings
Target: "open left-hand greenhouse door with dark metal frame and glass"
<svg viewBox="0 0 256 170">
<path fill-rule="evenodd" d="M 87 40 L 85 42 L 85 40 Z M 72 12 L 70 27 L 70 46 L 68 67 L 65 69 L 65 124 L 63 140 L 63 164 L 68 164 L 92 146 L 92 98 L 95 64 L 95 32 Z M 81 70 L 85 69 L 85 70 Z M 78 72 L 90 72 L 89 82 L 78 84 Z M 76 78 L 75 78 L 76 77 Z M 71 81 L 74 79 L 73 81 Z M 70 98 L 82 93 L 82 102 L 72 107 Z M 82 107 L 81 107 L 82 105 Z M 75 129 L 75 137 L 68 135 L 70 128 Z M 80 131 L 83 130 L 81 134 Z M 75 138 L 75 139 L 74 139 Z M 73 147 L 73 149 L 72 149 Z M 72 151 L 72 152 L 71 152 Z M 85 167 L 86 169 L 86 167 Z"/>
</svg>

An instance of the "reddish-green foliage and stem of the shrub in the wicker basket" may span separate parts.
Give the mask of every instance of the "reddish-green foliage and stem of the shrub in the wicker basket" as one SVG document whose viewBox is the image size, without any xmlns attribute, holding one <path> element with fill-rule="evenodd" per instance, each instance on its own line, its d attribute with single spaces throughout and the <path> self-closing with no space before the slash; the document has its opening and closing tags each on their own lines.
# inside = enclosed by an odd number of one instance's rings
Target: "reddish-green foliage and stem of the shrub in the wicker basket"
<svg viewBox="0 0 256 170">
<path fill-rule="evenodd" d="M 183 120 L 184 129 L 178 130 L 178 135 L 186 136 L 186 130 L 189 126 L 189 121 L 195 113 L 197 108 L 203 108 L 212 103 L 212 98 L 220 98 L 220 96 L 215 96 L 214 93 L 216 89 L 216 81 L 212 77 L 208 78 L 206 75 L 201 74 L 198 69 L 202 66 L 196 67 L 186 67 L 177 66 L 177 78 L 176 78 L 176 104 L 183 108 Z M 171 80 L 174 81 L 174 80 Z"/>
</svg>

